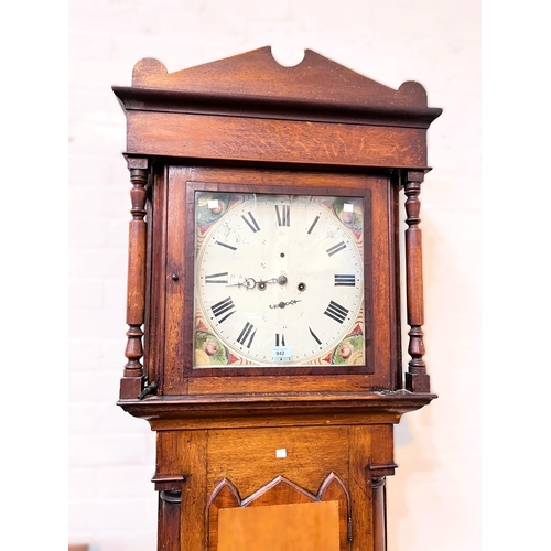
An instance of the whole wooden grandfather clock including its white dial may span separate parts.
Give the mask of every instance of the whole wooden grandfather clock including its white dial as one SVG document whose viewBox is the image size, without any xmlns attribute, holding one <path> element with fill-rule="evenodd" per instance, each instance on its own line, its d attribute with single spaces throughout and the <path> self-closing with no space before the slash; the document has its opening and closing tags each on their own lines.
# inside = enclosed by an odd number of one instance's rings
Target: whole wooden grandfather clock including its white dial
<svg viewBox="0 0 551 551">
<path fill-rule="evenodd" d="M 418 83 L 269 47 L 142 60 L 114 91 L 132 184 L 118 404 L 156 433 L 158 549 L 383 551 L 393 425 L 435 398 L 419 195 L 442 110 Z"/>
</svg>

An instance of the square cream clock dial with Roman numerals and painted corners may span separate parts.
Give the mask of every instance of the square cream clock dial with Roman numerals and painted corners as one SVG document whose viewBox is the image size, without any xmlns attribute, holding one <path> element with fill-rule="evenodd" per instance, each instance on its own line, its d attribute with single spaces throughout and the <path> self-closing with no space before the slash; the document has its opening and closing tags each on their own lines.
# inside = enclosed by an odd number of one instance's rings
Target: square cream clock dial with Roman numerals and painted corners
<svg viewBox="0 0 551 551">
<path fill-rule="evenodd" d="M 195 367 L 365 364 L 361 205 L 197 193 Z"/>
</svg>

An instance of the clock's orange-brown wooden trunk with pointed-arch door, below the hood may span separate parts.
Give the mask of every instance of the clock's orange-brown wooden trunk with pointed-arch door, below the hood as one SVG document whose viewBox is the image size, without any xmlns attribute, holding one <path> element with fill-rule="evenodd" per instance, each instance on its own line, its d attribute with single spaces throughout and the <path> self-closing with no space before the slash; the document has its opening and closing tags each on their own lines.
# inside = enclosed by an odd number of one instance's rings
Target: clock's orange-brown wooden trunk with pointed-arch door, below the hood
<svg viewBox="0 0 551 551">
<path fill-rule="evenodd" d="M 159 549 L 386 549 L 392 425 L 158 432 Z"/>
</svg>

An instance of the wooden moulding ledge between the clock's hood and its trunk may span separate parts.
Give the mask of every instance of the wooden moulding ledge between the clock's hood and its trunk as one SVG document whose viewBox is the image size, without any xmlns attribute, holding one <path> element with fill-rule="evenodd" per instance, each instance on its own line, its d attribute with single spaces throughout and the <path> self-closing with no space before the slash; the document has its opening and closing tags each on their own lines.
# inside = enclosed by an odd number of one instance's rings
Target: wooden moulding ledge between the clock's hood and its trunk
<svg viewBox="0 0 551 551">
<path fill-rule="evenodd" d="M 397 424 L 436 395 L 408 391 L 349 393 L 207 395 L 119 400 L 133 417 L 155 431 L 235 426 L 327 426 Z"/>
</svg>

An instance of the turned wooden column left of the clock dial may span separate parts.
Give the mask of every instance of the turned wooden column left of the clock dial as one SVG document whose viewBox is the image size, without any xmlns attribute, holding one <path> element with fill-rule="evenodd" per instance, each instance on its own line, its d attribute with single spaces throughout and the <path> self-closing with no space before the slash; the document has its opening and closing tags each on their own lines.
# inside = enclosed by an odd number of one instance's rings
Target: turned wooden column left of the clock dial
<svg viewBox="0 0 551 551">
<path fill-rule="evenodd" d="M 148 184 L 148 160 L 127 156 L 130 171 L 130 199 L 132 219 L 128 240 L 128 288 L 127 288 L 127 347 L 128 361 L 120 381 L 120 398 L 137 398 L 143 386 L 143 323 L 145 318 L 145 266 L 147 229 L 145 186 Z"/>
</svg>

